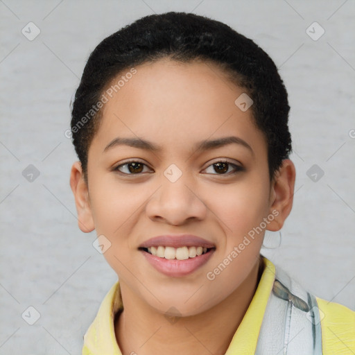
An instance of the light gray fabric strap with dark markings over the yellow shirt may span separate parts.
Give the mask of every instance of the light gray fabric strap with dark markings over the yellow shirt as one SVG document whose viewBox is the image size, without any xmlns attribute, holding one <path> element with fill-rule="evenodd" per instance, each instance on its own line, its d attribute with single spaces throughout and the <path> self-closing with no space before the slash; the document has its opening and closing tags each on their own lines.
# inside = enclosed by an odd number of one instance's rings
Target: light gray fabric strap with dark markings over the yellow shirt
<svg viewBox="0 0 355 355">
<path fill-rule="evenodd" d="M 317 300 L 284 270 L 276 268 L 255 355 L 300 354 L 322 355 Z"/>
</svg>

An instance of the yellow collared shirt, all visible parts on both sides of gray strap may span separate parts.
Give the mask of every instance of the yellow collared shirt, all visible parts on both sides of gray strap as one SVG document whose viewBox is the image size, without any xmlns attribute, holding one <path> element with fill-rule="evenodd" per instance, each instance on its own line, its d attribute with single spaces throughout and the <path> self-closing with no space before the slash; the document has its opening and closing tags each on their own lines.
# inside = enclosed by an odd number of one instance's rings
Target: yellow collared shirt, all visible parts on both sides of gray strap
<svg viewBox="0 0 355 355">
<path fill-rule="evenodd" d="M 225 355 L 254 354 L 265 313 L 266 304 L 275 280 L 275 265 L 262 257 L 264 268 L 257 291 L 234 334 Z M 335 302 L 315 297 L 324 317 L 322 329 L 323 355 L 355 354 L 355 311 Z M 114 333 L 114 315 L 123 309 L 119 282 L 105 296 L 94 322 L 84 336 L 82 355 L 122 355 Z"/>
</svg>

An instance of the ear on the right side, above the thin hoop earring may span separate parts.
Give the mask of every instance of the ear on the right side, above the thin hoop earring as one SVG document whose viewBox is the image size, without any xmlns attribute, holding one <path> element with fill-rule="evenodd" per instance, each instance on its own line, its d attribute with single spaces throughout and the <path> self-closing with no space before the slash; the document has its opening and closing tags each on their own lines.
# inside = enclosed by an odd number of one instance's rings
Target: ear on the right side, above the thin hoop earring
<svg viewBox="0 0 355 355">
<path fill-rule="evenodd" d="M 269 214 L 272 214 L 275 218 L 268 224 L 267 230 L 273 232 L 281 230 L 284 221 L 290 214 L 293 205 L 295 178 L 295 165 L 290 159 L 284 159 L 271 183 Z"/>
</svg>

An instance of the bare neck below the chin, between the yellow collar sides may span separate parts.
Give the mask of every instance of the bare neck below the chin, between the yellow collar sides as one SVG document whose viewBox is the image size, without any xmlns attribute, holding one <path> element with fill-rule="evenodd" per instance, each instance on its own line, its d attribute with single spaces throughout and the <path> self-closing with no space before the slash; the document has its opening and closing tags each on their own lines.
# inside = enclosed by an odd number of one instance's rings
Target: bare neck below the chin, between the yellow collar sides
<svg viewBox="0 0 355 355">
<path fill-rule="evenodd" d="M 225 354 L 252 301 L 262 272 L 263 263 L 258 258 L 248 277 L 223 302 L 176 322 L 167 322 L 164 314 L 152 311 L 120 282 L 124 309 L 116 317 L 114 329 L 122 354 Z"/>
</svg>

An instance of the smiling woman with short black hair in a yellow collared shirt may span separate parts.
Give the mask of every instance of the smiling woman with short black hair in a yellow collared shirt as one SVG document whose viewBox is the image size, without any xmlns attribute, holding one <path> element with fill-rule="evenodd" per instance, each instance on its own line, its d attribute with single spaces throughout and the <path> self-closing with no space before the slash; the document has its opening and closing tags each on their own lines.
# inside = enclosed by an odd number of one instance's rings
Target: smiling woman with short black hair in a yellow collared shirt
<svg viewBox="0 0 355 355">
<path fill-rule="evenodd" d="M 207 17 L 151 15 L 98 44 L 70 184 L 119 282 L 83 354 L 355 352 L 355 312 L 260 254 L 293 204 L 289 108 L 270 57 Z"/>
</svg>

